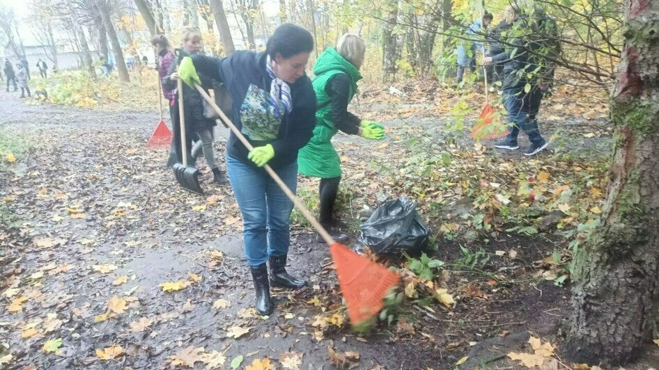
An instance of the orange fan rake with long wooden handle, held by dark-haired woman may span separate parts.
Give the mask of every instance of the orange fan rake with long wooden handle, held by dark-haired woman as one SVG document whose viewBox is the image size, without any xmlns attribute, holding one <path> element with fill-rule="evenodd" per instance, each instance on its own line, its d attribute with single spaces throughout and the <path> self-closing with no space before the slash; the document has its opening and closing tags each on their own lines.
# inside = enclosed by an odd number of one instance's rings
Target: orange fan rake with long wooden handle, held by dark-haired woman
<svg viewBox="0 0 659 370">
<path fill-rule="evenodd" d="M 200 86 L 196 86 L 199 94 L 206 99 L 206 102 L 212 106 L 224 123 L 228 125 L 233 134 L 238 137 L 238 140 L 247 147 L 251 152 L 254 147 L 251 146 L 249 141 L 240 133 L 240 130 L 235 127 L 233 122 L 226 117 L 224 112 L 215 104 L 206 91 Z M 390 271 L 380 264 L 377 264 L 370 259 L 357 255 L 357 253 L 350 250 L 348 247 L 343 246 L 341 243 L 336 243 L 332 236 L 327 233 L 327 230 L 318 223 L 313 215 L 309 212 L 307 207 L 300 202 L 299 199 L 293 194 L 292 191 L 284 184 L 276 172 L 270 166 L 264 166 L 265 171 L 272 177 L 274 182 L 279 185 L 282 191 L 286 194 L 288 199 L 293 201 L 295 207 L 302 213 L 304 218 L 309 220 L 313 228 L 323 237 L 325 243 L 330 246 L 330 253 L 336 266 L 336 275 L 339 277 L 339 287 L 341 293 L 346 298 L 346 305 L 348 307 L 348 316 L 350 316 L 350 323 L 352 325 L 359 325 L 364 321 L 370 319 L 380 312 L 384 306 L 382 300 L 387 296 L 389 289 L 398 284 L 400 278 L 397 273 Z"/>
</svg>

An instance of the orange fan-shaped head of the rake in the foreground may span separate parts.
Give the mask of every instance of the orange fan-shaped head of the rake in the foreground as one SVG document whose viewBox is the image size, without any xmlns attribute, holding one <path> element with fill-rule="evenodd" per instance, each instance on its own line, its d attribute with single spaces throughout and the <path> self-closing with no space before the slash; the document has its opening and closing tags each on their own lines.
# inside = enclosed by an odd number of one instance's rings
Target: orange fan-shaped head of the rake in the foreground
<svg viewBox="0 0 659 370">
<path fill-rule="evenodd" d="M 382 300 L 391 287 L 398 285 L 400 277 L 341 243 L 332 243 L 330 252 L 341 293 L 346 298 L 350 323 L 359 325 L 380 312 L 384 307 Z"/>
</svg>

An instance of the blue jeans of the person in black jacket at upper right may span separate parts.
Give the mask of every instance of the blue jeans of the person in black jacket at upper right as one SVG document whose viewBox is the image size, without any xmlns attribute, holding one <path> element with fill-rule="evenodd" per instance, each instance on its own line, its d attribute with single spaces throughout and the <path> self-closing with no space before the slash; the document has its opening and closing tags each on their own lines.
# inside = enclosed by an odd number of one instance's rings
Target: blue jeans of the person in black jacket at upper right
<svg viewBox="0 0 659 370">
<path fill-rule="evenodd" d="M 538 121 L 536 120 L 542 100 L 540 88 L 533 86 L 528 93 L 524 92 L 523 86 L 520 88 L 506 88 L 504 94 L 506 95 L 506 111 L 508 111 L 511 126 L 508 139 L 516 143 L 517 136 L 520 129 L 522 129 L 529 136 L 531 143 L 542 145 L 545 139 L 540 134 Z"/>
</svg>

